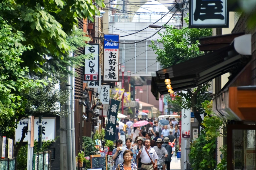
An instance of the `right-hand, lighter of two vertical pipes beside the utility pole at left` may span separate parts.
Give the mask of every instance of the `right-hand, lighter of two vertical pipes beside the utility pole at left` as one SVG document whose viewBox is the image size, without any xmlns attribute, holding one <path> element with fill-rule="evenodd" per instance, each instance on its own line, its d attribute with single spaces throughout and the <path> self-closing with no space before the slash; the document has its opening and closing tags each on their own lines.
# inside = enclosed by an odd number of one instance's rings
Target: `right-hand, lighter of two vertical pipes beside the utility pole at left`
<svg viewBox="0 0 256 170">
<path fill-rule="evenodd" d="M 72 52 L 72 56 L 74 57 L 74 53 Z M 75 145 L 75 67 L 72 65 L 71 67 L 72 75 L 71 75 L 71 140 L 72 140 L 72 162 L 73 162 L 73 170 L 76 170 L 76 145 Z"/>
</svg>

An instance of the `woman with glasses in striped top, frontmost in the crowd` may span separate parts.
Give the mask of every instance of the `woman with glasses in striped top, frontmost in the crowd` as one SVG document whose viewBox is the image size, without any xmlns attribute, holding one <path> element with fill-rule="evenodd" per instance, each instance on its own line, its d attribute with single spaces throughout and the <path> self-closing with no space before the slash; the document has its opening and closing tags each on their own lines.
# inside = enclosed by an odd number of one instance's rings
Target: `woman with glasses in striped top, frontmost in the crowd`
<svg viewBox="0 0 256 170">
<path fill-rule="evenodd" d="M 133 153 L 130 150 L 124 151 L 123 163 L 119 163 L 115 170 L 137 170 L 137 165 L 131 161 Z"/>
</svg>

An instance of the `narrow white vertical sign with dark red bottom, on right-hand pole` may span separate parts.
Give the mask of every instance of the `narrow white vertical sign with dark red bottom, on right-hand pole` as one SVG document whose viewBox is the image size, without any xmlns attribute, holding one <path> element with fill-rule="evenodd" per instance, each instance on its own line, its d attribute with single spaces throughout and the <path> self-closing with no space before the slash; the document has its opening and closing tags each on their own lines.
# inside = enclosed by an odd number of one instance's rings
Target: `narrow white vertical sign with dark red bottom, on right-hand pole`
<svg viewBox="0 0 256 170">
<path fill-rule="evenodd" d="M 181 111 L 181 137 L 190 138 L 190 111 L 182 109 Z"/>
</svg>

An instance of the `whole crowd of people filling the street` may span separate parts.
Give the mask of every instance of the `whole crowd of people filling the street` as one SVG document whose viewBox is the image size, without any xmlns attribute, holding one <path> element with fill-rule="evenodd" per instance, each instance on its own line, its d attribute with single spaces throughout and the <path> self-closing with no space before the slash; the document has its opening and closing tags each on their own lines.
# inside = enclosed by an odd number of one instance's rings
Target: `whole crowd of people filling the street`
<svg viewBox="0 0 256 170">
<path fill-rule="evenodd" d="M 134 123 L 141 120 L 148 121 L 148 124 L 133 127 Z M 157 167 L 158 159 L 162 170 L 170 170 L 175 145 L 179 145 L 180 132 L 175 118 L 167 120 L 169 124 L 164 126 L 155 118 L 124 119 L 117 122 L 112 170 L 153 170 Z M 123 146 L 120 135 L 127 136 L 126 146 Z"/>
</svg>

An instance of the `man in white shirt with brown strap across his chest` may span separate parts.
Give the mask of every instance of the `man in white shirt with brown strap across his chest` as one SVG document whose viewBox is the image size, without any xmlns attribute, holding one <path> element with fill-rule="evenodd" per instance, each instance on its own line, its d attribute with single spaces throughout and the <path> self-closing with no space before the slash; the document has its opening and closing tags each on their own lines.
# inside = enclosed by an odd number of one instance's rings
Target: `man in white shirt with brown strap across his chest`
<svg viewBox="0 0 256 170">
<path fill-rule="evenodd" d="M 157 167 L 158 156 L 155 149 L 150 147 L 149 139 L 145 140 L 145 147 L 142 147 L 142 149 L 140 149 L 137 158 L 141 158 L 142 168 L 145 168 L 147 170 L 153 170 Z M 151 160 L 155 163 L 154 167 Z"/>
</svg>

